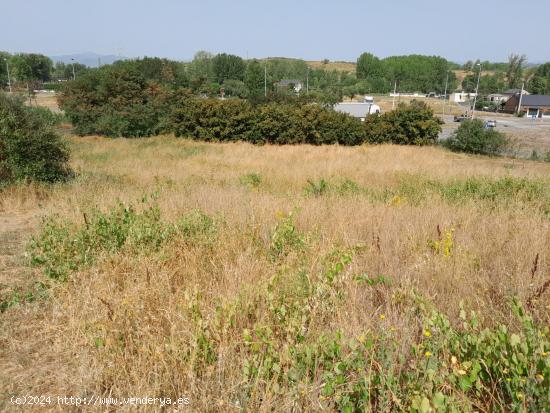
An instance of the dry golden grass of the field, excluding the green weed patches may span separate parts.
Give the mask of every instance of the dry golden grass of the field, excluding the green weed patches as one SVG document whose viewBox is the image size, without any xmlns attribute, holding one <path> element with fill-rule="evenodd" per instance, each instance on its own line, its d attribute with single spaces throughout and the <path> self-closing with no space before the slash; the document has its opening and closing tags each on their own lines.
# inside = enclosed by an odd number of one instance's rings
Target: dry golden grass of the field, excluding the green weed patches
<svg viewBox="0 0 550 413">
<path fill-rule="evenodd" d="M 246 411 L 318 411 L 319 390 L 313 387 L 298 395 L 292 388 L 276 393 L 261 380 L 243 382 L 242 337 L 235 328 L 215 328 L 220 317 L 233 317 L 237 327 L 261 321 L 267 311 L 262 294 L 273 279 L 290 277 L 292 286 L 292 274 L 300 269 L 313 277 L 335 248 L 362 244 L 345 277 L 384 275 L 391 286 L 369 289 L 344 278 L 345 305 L 319 310 L 310 333 L 340 330 L 358 337 L 396 329 L 405 349 L 419 328 L 418 316 L 407 308 L 410 292 L 453 322 L 463 301 L 481 310 L 487 325 L 513 325 L 511 297 L 525 301 L 550 273 L 547 205 L 514 197 L 450 202 L 425 184 L 509 177 L 549 185 L 548 164 L 391 145 L 255 147 L 172 137 L 71 142 L 77 179 L 53 188 L 4 190 L 1 225 L 13 214 L 32 214 L 32 230 L 26 223 L 10 228 L 28 239 L 41 216 L 58 214 L 83 225 L 83 213 L 93 206 L 108 209 L 118 199 L 139 205 L 143 195 L 156 193 L 167 221 L 199 209 L 214 217 L 217 236 L 194 243 L 176 238 L 161 253 L 105 254 L 66 283 L 52 282 L 23 262 L 11 268 L 10 274 L 24 271 L 51 290 L 48 300 L 13 306 L 1 315 L 3 395 L 186 395 L 189 411 L 228 412 L 243 407 L 236 400 L 252 386 Z M 257 185 L 243 183 L 251 173 L 261 178 Z M 320 179 L 334 188 L 347 179 L 361 190 L 307 194 L 307 181 Z M 369 195 L 385 190 L 397 192 L 386 198 Z M 305 247 L 273 261 L 267 253 L 273 228 L 293 210 Z M 428 242 L 450 228 L 452 254 L 434 254 Z M 538 268 L 531 276 L 536 254 Z M 1 283 L 17 289 L 29 281 L 3 278 Z M 548 293 L 533 309 L 546 324 L 547 304 Z M 204 351 L 196 341 L 199 331 L 216 343 L 217 361 L 206 367 L 199 363 Z M 2 407 L 13 409 L 7 403 Z"/>
</svg>

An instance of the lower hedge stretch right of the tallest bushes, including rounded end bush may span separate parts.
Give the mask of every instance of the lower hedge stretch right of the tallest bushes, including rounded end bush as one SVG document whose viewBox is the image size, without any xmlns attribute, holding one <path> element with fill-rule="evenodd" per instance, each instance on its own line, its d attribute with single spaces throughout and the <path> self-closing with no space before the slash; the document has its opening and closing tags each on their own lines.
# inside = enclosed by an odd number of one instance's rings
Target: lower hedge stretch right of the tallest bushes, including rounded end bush
<svg viewBox="0 0 550 413">
<path fill-rule="evenodd" d="M 437 141 L 441 123 L 421 102 L 362 123 L 317 104 L 252 106 L 242 100 L 212 99 L 186 99 L 173 108 L 169 121 L 176 136 L 198 140 L 313 145 L 426 145 Z"/>
</svg>

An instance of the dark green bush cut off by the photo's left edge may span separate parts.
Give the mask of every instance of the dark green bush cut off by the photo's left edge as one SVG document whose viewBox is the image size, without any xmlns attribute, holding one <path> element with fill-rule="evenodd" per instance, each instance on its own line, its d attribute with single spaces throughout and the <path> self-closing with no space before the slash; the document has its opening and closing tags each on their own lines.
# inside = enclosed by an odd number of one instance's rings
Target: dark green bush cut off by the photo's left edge
<svg viewBox="0 0 550 413">
<path fill-rule="evenodd" d="M 0 94 L 0 182 L 54 182 L 69 175 L 69 150 L 43 115 Z"/>
</svg>

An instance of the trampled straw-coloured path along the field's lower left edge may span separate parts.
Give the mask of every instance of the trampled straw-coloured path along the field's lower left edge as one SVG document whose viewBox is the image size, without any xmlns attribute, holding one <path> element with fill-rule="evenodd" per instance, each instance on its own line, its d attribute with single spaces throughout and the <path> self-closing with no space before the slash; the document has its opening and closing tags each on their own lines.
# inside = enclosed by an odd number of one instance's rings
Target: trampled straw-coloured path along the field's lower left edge
<svg viewBox="0 0 550 413">
<path fill-rule="evenodd" d="M 73 395 L 71 387 L 81 377 L 79 355 L 69 352 L 60 323 L 52 323 L 59 312 L 50 300 L 31 299 L 36 293 L 40 271 L 29 267 L 25 247 L 39 220 L 37 210 L 0 213 L 0 412 L 25 412 L 12 396 Z M 36 297 L 35 297 L 36 298 Z M 9 304 L 8 304 L 9 303 Z M 62 314 L 61 314 L 62 316 Z M 55 400 L 55 398 L 54 398 Z M 56 403 L 32 411 L 81 411 Z"/>
</svg>

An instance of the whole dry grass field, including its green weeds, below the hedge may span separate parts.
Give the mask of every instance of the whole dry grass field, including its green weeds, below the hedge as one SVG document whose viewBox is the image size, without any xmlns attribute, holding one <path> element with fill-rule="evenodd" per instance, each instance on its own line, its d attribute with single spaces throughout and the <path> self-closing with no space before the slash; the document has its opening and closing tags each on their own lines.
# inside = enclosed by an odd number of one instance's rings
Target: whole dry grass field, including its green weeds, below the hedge
<svg viewBox="0 0 550 413">
<path fill-rule="evenodd" d="M 166 411 L 194 412 L 548 406 L 549 164 L 70 140 L 74 180 L 0 192 L 0 409 L 24 411 L 8 402 L 24 394 L 184 396 Z"/>
</svg>

